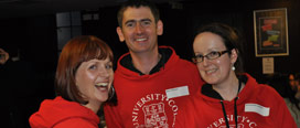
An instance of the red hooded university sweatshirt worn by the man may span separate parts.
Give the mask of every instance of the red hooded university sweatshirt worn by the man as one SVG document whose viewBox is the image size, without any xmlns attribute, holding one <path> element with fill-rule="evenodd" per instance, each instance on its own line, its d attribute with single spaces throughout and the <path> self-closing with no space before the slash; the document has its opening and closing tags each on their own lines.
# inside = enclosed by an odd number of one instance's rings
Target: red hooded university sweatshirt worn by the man
<svg viewBox="0 0 300 128">
<path fill-rule="evenodd" d="M 160 46 L 162 58 L 170 55 L 159 72 L 140 75 L 118 61 L 114 86 L 117 106 L 104 106 L 108 128 L 172 128 L 185 98 L 203 85 L 196 66 L 180 58 L 169 46 Z"/>
</svg>

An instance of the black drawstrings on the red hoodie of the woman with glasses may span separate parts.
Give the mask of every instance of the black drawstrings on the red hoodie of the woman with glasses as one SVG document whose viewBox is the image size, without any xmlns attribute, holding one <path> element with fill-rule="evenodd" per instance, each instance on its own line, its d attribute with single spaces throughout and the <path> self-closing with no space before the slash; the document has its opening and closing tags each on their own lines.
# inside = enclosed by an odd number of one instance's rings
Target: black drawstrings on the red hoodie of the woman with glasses
<svg viewBox="0 0 300 128">
<path fill-rule="evenodd" d="M 238 79 L 238 89 L 237 89 L 237 94 L 236 94 L 236 97 L 234 99 L 235 104 L 234 104 L 234 117 L 235 117 L 235 127 L 237 128 L 237 106 L 236 106 L 236 100 L 238 99 L 237 95 L 240 90 L 240 87 L 242 87 L 242 82 Z M 224 103 L 223 100 L 219 102 L 221 105 L 222 105 L 222 109 L 223 109 L 223 114 L 224 114 L 224 118 L 225 118 L 225 122 L 226 122 L 226 127 L 227 128 L 231 128 L 229 127 L 229 122 L 228 122 L 228 119 L 227 119 L 227 114 L 226 114 L 226 110 L 225 110 L 225 106 L 224 106 Z"/>
</svg>

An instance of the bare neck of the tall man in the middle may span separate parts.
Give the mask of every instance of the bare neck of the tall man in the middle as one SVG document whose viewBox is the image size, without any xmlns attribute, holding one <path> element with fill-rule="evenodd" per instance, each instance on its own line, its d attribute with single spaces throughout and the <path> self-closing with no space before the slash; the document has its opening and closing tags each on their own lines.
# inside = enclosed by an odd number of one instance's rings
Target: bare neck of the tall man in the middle
<svg viewBox="0 0 300 128">
<path fill-rule="evenodd" d="M 132 64 L 143 74 L 149 74 L 150 71 L 159 63 L 161 55 L 158 51 L 147 54 L 132 54 Z"/>
</svg>

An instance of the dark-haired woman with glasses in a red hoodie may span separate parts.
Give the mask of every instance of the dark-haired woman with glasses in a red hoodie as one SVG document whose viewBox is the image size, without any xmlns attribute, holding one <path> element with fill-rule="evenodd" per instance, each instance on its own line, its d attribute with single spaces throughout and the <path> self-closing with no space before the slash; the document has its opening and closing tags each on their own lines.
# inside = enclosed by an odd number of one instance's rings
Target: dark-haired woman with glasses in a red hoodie
<svg viewBox="0 0 300 128">
<path fill-rule="evenodd" d="M 193 62 L 206 84 L 179 111 L 176 128 L 297 128 L 283 98 L 243 73 L 240 43 L 226 24 L 197 32 Z"/>
</svg>

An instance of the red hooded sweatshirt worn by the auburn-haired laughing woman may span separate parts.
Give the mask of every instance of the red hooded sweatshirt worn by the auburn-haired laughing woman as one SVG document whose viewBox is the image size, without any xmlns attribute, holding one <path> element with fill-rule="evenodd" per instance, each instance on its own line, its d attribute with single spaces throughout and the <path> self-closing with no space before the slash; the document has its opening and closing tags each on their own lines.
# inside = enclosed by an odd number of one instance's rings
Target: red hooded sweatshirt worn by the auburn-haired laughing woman
<svg viewBox="0 0 300 128">
<path fill-rule="evenodd" d="M 29 122 L 31 128 L 98 128 L 99 117 L 89 108 L 57 96 L 42 102 Z"/>
</svg>

